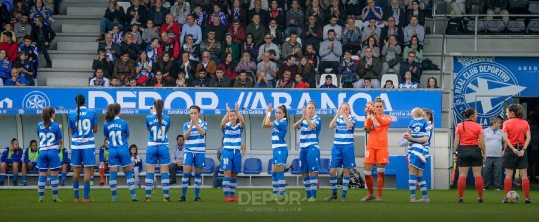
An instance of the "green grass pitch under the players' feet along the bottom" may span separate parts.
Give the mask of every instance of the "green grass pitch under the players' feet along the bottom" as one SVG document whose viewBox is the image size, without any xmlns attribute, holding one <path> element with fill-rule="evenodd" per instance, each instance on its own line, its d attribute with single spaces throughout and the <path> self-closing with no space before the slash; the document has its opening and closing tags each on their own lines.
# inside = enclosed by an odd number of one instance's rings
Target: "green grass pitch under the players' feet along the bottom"
<svg viewBox="0 0 539 222">
<path fill-rule="evenodd" d="M 384 190 L 384 201 L 360 199 L 366 189 L 350 189 L 348 202 L 324 202 L 330 189 L 320 189 L 317 202 L 279 205 L 275 202 L 225 203 L 221 189 L 202 189 L 204 202 L 194 202 L 189 188 L 186 202 L 177 202 L 181 190 L 172 188 L 172 202 L 162 202 L 161 189 L 154 189 L 151 202 L 131 202 L 129 190 L 118 189 L 118 203 L 110 202 L 108 189 L 93 189 L 96 203 L 73 203 L 73 191 L 60 189 L 63 203 L 53 203 L 49 187 L 45 202 L 37 203 L 37 189 L 0 189 L 0 221 L 538 221 L 539 204 L 501 204 L 503 191 L 486 190 L 485 203 L 477 203 L 475 190 L 465 192 L 464 203 L 457 203 L 456 190 L 429 190 L 431 203 L 409 203 L 407 190 Z M 238 192 L 271 193 L 271 189 L 241 189 Z M 517 190 L 523 200 L 521 190 Z M 137 189 L 144 197 L 144 189 Z M 287 192 L 305 195 L 303 189 Z M 338 191 L 341 193 L 341 190 Z M 376 190 L 375 190 L 376 192 Z M 245 200 L 246 196 L 243 193 Z M 82 197 L 82 189 L 80 190 Z M 418 190 L 418 196 L 420 192 Z M 531 191 L 531 199 L 539 200 L 539 191 Z M 535 197 L 535 198 L 534 198 Z M 261 202 L 261 201 L 260 201 Z"/>
</svg>

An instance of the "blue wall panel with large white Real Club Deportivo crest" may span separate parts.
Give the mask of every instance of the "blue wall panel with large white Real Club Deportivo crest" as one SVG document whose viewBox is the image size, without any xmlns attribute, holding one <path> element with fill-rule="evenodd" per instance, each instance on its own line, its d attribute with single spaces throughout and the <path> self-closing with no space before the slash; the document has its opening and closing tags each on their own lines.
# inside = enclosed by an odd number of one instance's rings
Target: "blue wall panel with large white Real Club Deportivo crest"
<svg viewBox="0 0 539 222">
<path fill-rule="evenodd" d="M 455 57 L 453 72 L 455 124 L 462 121 L 460 112 L 473 107 L 486 127 L 490 117 L 503 116 L 503 101 L 539 96 L 536 57 Z"/>
</svg>

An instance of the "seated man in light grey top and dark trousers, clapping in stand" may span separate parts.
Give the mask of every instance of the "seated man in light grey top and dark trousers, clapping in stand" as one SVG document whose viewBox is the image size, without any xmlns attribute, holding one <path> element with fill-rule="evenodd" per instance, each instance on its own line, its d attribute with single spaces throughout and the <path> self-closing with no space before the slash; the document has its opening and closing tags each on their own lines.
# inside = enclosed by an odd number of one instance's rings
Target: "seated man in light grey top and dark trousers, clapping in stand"
<svg viewBox="0 0 539 222">
<path fill-rule="evenodd" d="M 320 57 L 322 58 L 318 67 L 320 73 L 331 69 L 330 73 L 337 74 L 342 56 L 342 45 L 340 41 L 335 39 L 335 36 L 335 31 L 329 30 L 328 40 L 323 41 L 320 45 Z"/>
</svg>

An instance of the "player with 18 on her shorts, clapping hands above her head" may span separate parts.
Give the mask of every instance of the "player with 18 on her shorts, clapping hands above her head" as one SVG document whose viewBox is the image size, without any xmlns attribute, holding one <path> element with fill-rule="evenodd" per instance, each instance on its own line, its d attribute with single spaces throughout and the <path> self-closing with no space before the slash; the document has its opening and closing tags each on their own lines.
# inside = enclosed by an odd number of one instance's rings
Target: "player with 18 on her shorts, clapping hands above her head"
<svg viewBox="0 0 539 222">
<path fill-rule="evenodd" d="M 245 120 L 238 112 L 238 103 L 234 110 L 226 104 L 226 115 L 221 120 L 223 130 L 223 151 L 221 152 L 221 170 L 224 171 L 223 192 L 226 202 L 239 202 L 234 196 L 236 177 L 241 172 L 241 133 L 245 128 Z"/>
</svg>

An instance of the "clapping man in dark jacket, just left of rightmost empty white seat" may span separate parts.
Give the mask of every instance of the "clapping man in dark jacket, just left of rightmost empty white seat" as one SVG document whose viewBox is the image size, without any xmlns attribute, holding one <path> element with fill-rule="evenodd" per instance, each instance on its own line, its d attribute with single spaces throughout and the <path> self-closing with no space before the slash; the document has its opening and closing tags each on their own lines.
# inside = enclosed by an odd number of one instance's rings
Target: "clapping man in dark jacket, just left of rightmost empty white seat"
<svg viewBox="0 0 539 222">
<path fill-rule="evenodd" d="M 365 78 L 367 77 L 371 79 L 372 87 L 380 88 L 382 64 L 378 58 L 372 56 L 371 48 L 365 48 L 365 57 L 360 60 L 358 68 L 360 69 L 358 72 L 360 81 L 356 82 L 354 88 L 365 88 Z"/>
</svg>

